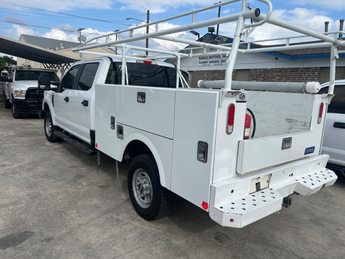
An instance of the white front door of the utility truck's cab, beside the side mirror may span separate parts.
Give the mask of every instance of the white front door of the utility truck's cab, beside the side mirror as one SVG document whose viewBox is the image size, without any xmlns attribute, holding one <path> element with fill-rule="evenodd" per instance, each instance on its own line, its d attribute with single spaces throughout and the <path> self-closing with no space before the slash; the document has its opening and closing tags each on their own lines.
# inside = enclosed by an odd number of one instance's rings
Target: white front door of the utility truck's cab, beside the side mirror
<svg viewBox="0 0 345 259">
<path fill-rule="evenodd" d="M 54 93 L 54 111 L 57 126 L 63 130 L 72 132 L 71 117 L 70 117 L 70 95 L 73 91 L 73 85 L 76 83 L 75 79 L 81 65 L 72 67 L 66 75 L 61 79 L 59 87 Z"/>
</svg>

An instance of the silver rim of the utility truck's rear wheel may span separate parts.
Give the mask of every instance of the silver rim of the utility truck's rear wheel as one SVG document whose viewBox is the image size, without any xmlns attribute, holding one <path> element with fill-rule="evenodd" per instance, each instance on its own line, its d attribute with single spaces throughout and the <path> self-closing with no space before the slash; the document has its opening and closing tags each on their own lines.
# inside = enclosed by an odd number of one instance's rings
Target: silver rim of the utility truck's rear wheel
<svg viewBox="0 0 345 259">
<path fill-rule="evenodd" d="M 133 193 L 140 207 L 146 209 L 152 202 L 152 184 L 145 170 L 139 168 L 133 175 Z"/>
</svg>

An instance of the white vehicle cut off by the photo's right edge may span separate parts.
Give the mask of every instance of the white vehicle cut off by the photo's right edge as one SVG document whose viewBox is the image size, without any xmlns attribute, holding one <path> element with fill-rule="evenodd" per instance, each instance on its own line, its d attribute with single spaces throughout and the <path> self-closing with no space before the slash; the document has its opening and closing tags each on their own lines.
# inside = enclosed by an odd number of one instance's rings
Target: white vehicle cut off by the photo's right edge
<svg viewBox="0 0 345 259">
<path fill-rule="evenodd" d="M 328 92 L 329 82 L 321 85 L 319 93 Z M 327 167 L 345 176 L 345 80 L 336 80 L 335 96 L 327 108 L 321 154 L 329 155 Z"/>
</svg>

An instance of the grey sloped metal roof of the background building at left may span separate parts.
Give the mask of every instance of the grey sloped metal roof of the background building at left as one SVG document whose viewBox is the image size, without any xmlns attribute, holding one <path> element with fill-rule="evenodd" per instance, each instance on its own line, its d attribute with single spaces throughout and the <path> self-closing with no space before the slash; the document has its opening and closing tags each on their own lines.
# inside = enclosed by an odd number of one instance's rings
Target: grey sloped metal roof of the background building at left
<svg viewBox="0 0 345 259">
<path fill-rule="evenodd" d="M 25 34 L 21 34 L 20 37 L 26 43 L 29 43 L 29 44 L 32 44 L 35 46 L 39 46 L 39 47 L 45 48 L 45 49 L 55 49 L 56 47 L 58 47 L 60 49 L 61 43 L 63 44 L 65 49 L 76 48 L 80 45 L 77 42 L 66 41 L 66 40 L 56 40 L 56 39 L 43 38 L 43 37 L 25 35 Z"/>
</svg>

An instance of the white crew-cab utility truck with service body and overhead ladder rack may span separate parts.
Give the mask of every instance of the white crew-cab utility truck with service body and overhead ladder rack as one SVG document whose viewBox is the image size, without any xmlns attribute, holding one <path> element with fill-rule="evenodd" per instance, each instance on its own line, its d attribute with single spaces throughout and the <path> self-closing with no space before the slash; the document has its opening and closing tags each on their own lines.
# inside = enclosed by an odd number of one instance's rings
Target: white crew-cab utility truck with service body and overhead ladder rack
<svg viewBox="0 0 345 259">
<path fill-rule="evenodd" d="M 45 132 L 51 142 L 59 138 L 85 153 L 103 152 L 117 161 L 130 162 L 128 190 L 138 214 L 146 220 L 167 215 L 178 194 L 228 227 L 244 227 L 290 206 L 290 195 L 309 195 L 333 184 L 337 176 L 325 168 L 328 155 L 320 155 L 327 106 L 334 96 L 317 94 L 319 83 L 236 82 L 231 80 L 237 53 L 297 48 L 329 47 L 330 81 L 334 82 L 336 46 L 345 42 L 270 17 L 242 2 L 239 13 L 196 22 L 196 14 L 239 0 L 225 1 L 178 16 L 148 23 L 156 30 L 133 36 L 127 30 L 98 36 L 95 45 L 122 48 L 122 55 L 83 60 L 72 65 L 51 90 L 50 78 L 41 76 L 39 87 L 48 90 L 43 99 Z M 159 23 L 191 15 L 192 23 L 158 30 Z M 237 21 L 231 46 L 206 44 L 167 36 L 185 30 Z M 249 23 L 245 23 L 248 21 Z M 312 36 L 321 43 L 269 48 L 239 48 L 240 38 L 263 23 Z M 118 37 L 115 34 L 129 37 Z M 343 32 L 344 33 L 344 32 Z M 126 35 L 126 34 L 125 34 Z M 99 43 L 99 38 L 105 42 Z M 145 38 L 158 38 L 204 48 L 199 54 L 124 45 Z M 91 41 L 92 41 L 91 40 Z M 267 41 L 265 39 L 264 41 Z M 88 42 L 86 42 L 88 43 Z M 189 88 L 180 72 L 180 59 L 226 54 L 225 81 L 199 81 Z M 129 49 L 156 52 L 148 58 L 126 56 Z M 176 65 L 157 61 L 176 59 Z M 87 145 L 73 140 L 78 137 Z"/>
</svg>

